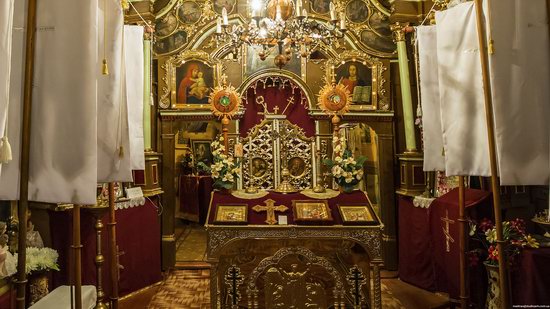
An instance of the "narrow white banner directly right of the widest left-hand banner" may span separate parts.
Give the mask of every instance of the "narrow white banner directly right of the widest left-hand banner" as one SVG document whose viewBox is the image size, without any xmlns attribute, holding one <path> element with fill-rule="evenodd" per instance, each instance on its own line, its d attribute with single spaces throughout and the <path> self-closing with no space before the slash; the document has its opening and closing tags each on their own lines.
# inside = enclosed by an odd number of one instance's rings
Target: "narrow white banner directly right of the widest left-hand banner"
<svg viewBox="0 0 550 309">
<path fill-rule="evenodd" d="M 132 181 L 123 54 L 124 13 L 119 0 L 99 1 L 97 15 L 97 181 Z M 103 58 L 108 75 L 102 74 Z M 120 147 L 123 151 L 120 152 Z"/>
</svg>

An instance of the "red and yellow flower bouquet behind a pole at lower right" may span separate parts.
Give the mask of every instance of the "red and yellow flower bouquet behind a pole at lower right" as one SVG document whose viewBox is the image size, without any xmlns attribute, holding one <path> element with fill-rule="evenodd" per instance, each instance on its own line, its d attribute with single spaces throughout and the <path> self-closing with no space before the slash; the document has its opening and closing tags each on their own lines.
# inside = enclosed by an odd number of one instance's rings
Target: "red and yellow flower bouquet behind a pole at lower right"
<svg viewBox="0 0 550 309">
<path fill-rule="evenodd" d="M 474 236 L 484 247 L 484 249 L 475 249 L 469 252 L 470 265 L 475 266 L 480 256 L 486 256 L 485 264 L 498 265 L 497 230 L 493 222 L 483 219 L 479 223 L 479 227 L 474 222 L 470 222 L 470 236 Z M 539 247 L 537 240 L 526 232 L 525 221 L 519 218 L 502 222 L 502 237 L 504 241 L 508 242 L 506 256 L 510 263 L 513 263 L 514 258 L 521 253 L 523 248 Z"/>
</svg>

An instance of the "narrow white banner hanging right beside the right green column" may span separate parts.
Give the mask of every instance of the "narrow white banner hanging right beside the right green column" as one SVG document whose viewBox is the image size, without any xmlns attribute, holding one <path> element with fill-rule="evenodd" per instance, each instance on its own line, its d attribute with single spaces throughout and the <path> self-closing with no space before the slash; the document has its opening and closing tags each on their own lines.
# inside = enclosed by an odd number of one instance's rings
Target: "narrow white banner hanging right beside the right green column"
<svg viewBox="0 0 550 309">
<path fill-rule="evenodd" d="M 439 70 L 437 63 L 437 29 L 435 26 L 416 28 L 422 126 L 424 130 L 424 171 L 445 170 L 441 108 L 439 98 Z"/>
</svg>

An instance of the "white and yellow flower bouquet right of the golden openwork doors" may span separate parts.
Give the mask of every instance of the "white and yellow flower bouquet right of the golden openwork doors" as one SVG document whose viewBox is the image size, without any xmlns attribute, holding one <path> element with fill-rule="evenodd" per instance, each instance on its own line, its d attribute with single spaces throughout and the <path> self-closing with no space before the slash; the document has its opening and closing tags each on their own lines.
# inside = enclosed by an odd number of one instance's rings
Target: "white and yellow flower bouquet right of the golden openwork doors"
<svg viewBox="0 0 550 309">
<path fill-rule="evenodd" d="M 323 163 L 330 168 L 334 181 L 344 192 L 351 192 L 363 179 L 363 165 L 367 160 L 361 156 L 355 160 L 346 147 L 346 138 L 337 134 L 332 138 L 334 159 L 325 159 Z"/>
</svg>

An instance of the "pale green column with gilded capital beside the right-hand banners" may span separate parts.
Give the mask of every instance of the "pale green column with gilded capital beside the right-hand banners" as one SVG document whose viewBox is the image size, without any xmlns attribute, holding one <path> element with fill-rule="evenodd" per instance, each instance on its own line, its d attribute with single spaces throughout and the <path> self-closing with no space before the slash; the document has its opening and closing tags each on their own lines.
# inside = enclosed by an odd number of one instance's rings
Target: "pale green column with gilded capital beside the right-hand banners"
<svg viewBox="0 0 550 309">
<path fill-rule="evenodd" d="M 391 26 L 394 40 L 397 43 L 399 58 L 399 78 L 401 80 L 401 98 L 403 101 L 403 120 L 405 123 L 405 143 L 407 152 L 417 152 L 414 130 L 414 114 L 412 107 L 411 81 L 409 75 L 409 59 L 405 42 L 405 28 L 407 25 L 396 23 Z"/>
</svg>

